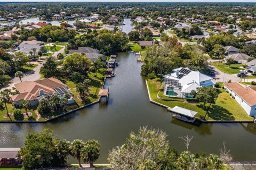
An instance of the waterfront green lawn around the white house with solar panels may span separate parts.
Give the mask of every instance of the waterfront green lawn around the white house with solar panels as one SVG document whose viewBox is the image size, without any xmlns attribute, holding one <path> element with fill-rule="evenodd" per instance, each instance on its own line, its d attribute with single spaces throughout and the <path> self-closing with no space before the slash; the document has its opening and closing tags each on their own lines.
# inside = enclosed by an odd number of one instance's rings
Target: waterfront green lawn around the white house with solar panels
<svg viewBox="0 0 256 170">
<path fill-rule="evenodd" d="M 197 112 L 197 117 L 204 116 L 207 110 L 206 104 L 205 109 L 203 109 L 202 103 L 183 103 L 183 101 L 163 101 L 157 98 L 159 88 L 161 87 L 161 80 L 153 79 L 148 80 L 148 87 L 150 91 L 151 99 L 166 105 L 168 107 L 184 107 Z M 230 98 L 229 94 L 222 89 L 219 90 L 219 96 L 216 100 L 216 104 L 213 104 L 209 110 L 209 114 L 206 116 L 206 120 L 253 120 L 252 117 L 248 116 L 244 109 L 235 101 L 235 99 Z"/>
</svg>

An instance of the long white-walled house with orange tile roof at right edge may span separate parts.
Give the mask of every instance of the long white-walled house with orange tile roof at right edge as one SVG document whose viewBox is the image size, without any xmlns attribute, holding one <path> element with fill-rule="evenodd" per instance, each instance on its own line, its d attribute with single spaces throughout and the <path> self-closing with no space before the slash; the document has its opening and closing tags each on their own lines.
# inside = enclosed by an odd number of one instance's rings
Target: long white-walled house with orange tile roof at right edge
<svg viewBox="0 0 256 170">
<path fill-rule="evenodd" d="M 256 115 L 256 91 L 239 83 L 225 83 L 224 88 L 241 105 L 249 116 Z"/>
</svg>

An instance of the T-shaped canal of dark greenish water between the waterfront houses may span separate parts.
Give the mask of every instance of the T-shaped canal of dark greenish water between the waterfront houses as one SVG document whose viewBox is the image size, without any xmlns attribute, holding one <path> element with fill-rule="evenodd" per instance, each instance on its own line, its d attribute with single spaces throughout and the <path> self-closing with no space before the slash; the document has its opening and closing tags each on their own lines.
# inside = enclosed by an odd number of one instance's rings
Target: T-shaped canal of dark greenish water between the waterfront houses
<svg viewBox="0 0 256 170">
<path fill-rule="evenodd" d="M 162 129 L 169 135 L 172 148 L 185 150 L 183 135 L 194 136 L 192 152 L 219 154 L 222 142 L 231 150 L 234 160 L 255 160 L 256 125 L 247 123 L 209 123 L 191 125 L 171 118 L 166 109 L 149 102 L 145 79 L 141 77 L 141 63 L 134 54 L 121 53 L 117 60 L 116 76 L 108 79 L 108 105 L 95 104 L 81 111 L 45 124 L 0 124 L 0 147 L 22 147 L 27 133 L 51 129 L 67 140 L 89 139 L 101 143 L 97 163 L 107 163 L 109 150 L 122 145 L 131 131 L 141 126 Z M 69 163 L 76 163 L 70 158 Z"/>
</svg>

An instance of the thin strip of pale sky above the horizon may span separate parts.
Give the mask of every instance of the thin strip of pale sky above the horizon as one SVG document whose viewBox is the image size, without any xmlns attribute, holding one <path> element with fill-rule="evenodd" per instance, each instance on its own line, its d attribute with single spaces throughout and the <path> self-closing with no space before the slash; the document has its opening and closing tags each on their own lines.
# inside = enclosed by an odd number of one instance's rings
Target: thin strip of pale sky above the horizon
<svg viewBox="0 0 256 170">
<path fill-rule="evenodd" d="M 256 0 L 0 0 L 0 2 L 255 2 Z"/>
</svg>

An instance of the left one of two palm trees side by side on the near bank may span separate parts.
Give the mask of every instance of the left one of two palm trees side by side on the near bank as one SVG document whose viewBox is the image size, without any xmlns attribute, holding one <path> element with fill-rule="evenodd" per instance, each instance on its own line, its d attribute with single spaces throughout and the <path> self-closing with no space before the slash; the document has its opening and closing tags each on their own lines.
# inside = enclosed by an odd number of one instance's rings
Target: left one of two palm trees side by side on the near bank
<svg viewBox="0 0 256 170">
<path fill-rule="evenodd" d="M 70 151 L 71 151 L 71 156 L 73 156 L 74 158 L 76 158 L 78 160 L 78 164 L 80 167 L 82 167 L 81 165 L 81 151 L 84 147 L 84 141 L 80 140 L 80 139 L 75 139 L 70 146 Z"/>
</svg>

